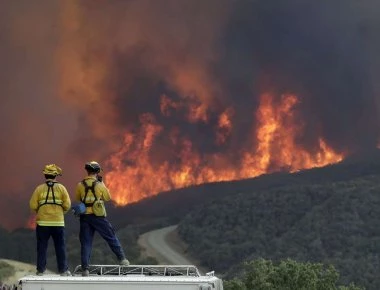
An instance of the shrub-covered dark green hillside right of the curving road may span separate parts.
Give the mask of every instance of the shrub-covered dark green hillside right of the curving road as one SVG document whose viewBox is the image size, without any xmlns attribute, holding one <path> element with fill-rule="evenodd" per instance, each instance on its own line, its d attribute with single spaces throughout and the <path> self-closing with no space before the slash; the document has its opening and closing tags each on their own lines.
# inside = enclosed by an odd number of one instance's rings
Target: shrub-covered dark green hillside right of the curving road
<svg viewBox="0 0 380 290">
<path fill-rule="evenodd" d="M 342 282 L 380 289 L 380 175 L 252 190 L 203 205 L 180 224 L 189 250 L 221 272 L 243 260 L 332 263 Z"/>
</svg>

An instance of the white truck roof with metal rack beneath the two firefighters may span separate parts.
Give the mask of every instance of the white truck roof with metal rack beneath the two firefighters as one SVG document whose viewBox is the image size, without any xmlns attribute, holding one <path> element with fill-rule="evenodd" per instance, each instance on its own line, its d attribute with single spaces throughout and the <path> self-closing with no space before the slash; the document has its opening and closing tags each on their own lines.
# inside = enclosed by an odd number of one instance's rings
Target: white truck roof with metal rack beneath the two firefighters
<svg viewBox="0 0 380 290">
<path fill-rule="evenodd" d="M 223 290 L 214 271 L 201 275 L 193 265 L 91 265 L 83 277 L 47 274 L 21 278 L 17 290 Z"/>
</svg>

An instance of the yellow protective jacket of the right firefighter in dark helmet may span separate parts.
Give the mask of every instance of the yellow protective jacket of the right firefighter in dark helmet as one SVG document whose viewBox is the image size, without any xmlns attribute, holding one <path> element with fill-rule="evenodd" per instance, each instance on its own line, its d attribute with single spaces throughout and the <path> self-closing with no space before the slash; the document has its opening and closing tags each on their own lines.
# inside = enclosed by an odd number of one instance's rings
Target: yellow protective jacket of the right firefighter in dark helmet
<svg viewBox="0 0 380 290">
<path fill-rule="evenodd" d="M 97 181 L 96 177 L 94 176 L 87 176 L 84 179 L 84 182 L 87 184 L 87 186 L 91 187 L 92 183 L 94 181 Z M 79 182 L 76 190 L 75 190 L 75 199 L 77 201 L 81 201 L 87 205 L 93 204 L 96 200 L 94 194 L 91 190 L 88 191 L 86 200 L 84 200 L 85 197 L 85 187 L 82 182 Z M 95 184 L 95 195 L 98 199 L 109 201 L 111 200 L 111 194 L 108 190 L 108 188 L 105 186 L 103 182 L 96 182 Z M 85 214 L 93 214 L 92 206 L 86 206 L 86 212 Z"/>
</svg>

